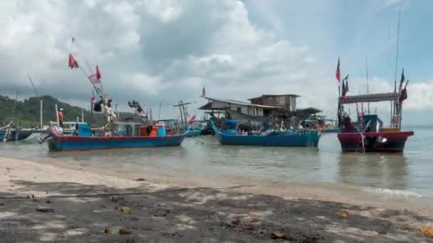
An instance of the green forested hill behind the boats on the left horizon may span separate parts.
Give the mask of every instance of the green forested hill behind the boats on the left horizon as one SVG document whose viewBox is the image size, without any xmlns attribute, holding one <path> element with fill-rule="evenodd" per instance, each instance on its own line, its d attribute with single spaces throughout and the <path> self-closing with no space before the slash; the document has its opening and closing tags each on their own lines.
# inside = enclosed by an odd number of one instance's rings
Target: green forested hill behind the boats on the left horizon
<svg viewBox="0 0 433 243">
<path fill-rule="evenodd" d="M 64 109 L 64 121 L 76 121 L 81 119 L 82 107 L 61 102 L 58 99 L 45 95 L 43 97 L 30 97 L 16 102 L 15 99 L 0 95 L 0 123 L 5 125 L 11 117 L 19 118 L 20 124 L 25 127 L 38 126 L 40 123 L 40 99 L 43 100 L 43 124 L 56 121 L 56 107 Z M 92 126 L 102 126 L 105 122 L 103 114 L 84 110 L 84 120 Z"/>
</svg>

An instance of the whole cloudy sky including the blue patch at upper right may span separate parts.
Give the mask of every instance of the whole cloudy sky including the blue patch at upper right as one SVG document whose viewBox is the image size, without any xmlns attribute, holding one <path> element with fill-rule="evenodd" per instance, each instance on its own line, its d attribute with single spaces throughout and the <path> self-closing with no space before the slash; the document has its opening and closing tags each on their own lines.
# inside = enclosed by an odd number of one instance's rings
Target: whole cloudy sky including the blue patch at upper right
<svg viewBox="0 0 433 243">
<path fill-rule="evenodd" d="M 68 69 L 68 53 L 89 72 L 100 66 L 115 102 L 137 99 L 162 117 L 179 99 L 194 112 L 207 95 L 247 99 L 301 95 L 298 107 L 335 116 L 335 67 L 341 58 L 350 93 L 393 90 L 400 1 L 0 1 L 0 90 L 41 94 L 88 105 L 83 72 Z M 432 1 L 402 2 L 401 69 L 410 80 L 405 123 L 433 122 Z M 75 43 L 71 43 L 71 38 Z M 387 114 L 388 104 L 373 105 Z M 352 109 L 354 109 L 353 107 Z M 385 110 L 383 110 L 385 109 Z M 388 117 L 384 118 L 387 120 Z M 420 121 L 418 121 L 420 120 Z"/>
</svg>

